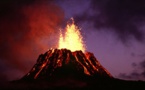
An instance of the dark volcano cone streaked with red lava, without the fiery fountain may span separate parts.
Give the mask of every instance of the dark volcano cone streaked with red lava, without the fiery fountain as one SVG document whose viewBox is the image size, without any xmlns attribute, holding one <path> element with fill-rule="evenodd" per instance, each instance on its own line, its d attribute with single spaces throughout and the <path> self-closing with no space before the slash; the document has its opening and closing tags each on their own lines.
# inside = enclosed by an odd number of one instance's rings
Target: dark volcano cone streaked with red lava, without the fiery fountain
<svg viewBox="0 0 145 90">
<path fill-rule="evenodd" d="M 22 78 L 49 80 L 62 77 L 109 77 L 112 75 L 99 63 L 93 53 L 71 52 L 68 49 L 51 49 L 39 55 L 36 64 Z"/>
</svg>

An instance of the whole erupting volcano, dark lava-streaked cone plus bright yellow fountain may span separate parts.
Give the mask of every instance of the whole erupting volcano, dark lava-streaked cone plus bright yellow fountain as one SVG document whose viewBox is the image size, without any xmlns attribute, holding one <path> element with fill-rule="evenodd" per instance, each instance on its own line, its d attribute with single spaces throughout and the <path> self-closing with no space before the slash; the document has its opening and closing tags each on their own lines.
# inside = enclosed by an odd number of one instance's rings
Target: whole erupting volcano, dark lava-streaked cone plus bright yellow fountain
<svg viewBox="0 0 145 90">
<path fill-rule="evenodd" d="M 80 29 L 74 24 L 73 18 L 67 24 L 65 34 L 60 31 L 58 49 L 50 49 L 41 54 L 30 72 L 22 79 L 46 80 L 67 76 L 112 77 L 93 53 L 85 52 Z"/>
</svg>

